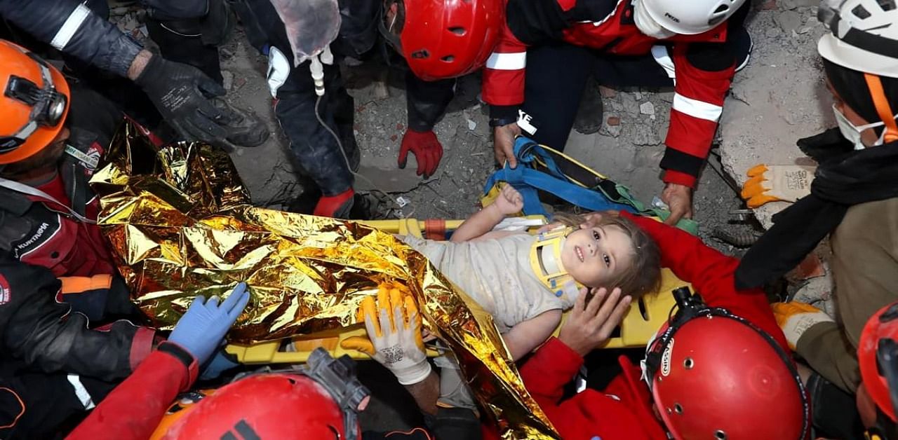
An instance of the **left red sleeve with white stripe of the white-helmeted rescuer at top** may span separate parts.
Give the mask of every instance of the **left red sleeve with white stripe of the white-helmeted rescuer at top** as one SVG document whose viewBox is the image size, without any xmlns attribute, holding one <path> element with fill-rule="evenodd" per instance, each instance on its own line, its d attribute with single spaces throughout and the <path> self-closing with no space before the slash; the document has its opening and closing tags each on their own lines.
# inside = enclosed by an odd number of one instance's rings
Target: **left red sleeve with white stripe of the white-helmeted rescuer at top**
<svg viewBox="0 0 898 440">
<path fill-rule="evenodd" d="M 524 67 L 527 45 L 502 24 L 499 42 L 483 67 L 481 94 L 492 106 L 516 106 L 524 102 Z"/>
</svg>

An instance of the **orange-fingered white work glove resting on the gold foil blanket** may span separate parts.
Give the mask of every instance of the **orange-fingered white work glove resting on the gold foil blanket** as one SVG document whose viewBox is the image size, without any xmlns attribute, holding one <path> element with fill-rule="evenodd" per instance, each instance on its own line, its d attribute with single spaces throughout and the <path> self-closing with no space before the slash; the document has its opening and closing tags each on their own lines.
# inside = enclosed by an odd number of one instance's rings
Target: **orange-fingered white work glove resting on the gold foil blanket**
<svg viewBox="0 0 898 440">
<path fill-rule="evenodd" d="M 389 369 L 400 384 L 418 384 L 430 375 L 430 363 L 421 340 L 421 315 L 410 296 L 400 289 L 382 286 L 373 297 L 362 300 L 368 338 L 354 336 L 340 342 L 344 349 L 357 349 Z"/>
</svg>

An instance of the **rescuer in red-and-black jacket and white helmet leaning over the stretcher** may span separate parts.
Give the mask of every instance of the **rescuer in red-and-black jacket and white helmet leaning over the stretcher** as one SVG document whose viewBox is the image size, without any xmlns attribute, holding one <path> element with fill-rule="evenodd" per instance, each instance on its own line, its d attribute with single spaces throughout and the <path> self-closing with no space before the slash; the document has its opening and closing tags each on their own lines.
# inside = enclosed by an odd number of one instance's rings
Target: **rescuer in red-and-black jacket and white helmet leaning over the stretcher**
<svg viewBox="0 0 898 440">
<path fill-rule="evenodd" d="M 745 0 L 507 0 L 502 37 L 483 71 L 497 161 L 516 166 L 512 146 L 522 130 L 563 150 L 590 74 L 613 86 L 674 85 L 661 198 L 671 209 L 668 224 L 691 217 L 724 96 L 750 51 L 742 27 L 749 7 Z"/>
</svg>

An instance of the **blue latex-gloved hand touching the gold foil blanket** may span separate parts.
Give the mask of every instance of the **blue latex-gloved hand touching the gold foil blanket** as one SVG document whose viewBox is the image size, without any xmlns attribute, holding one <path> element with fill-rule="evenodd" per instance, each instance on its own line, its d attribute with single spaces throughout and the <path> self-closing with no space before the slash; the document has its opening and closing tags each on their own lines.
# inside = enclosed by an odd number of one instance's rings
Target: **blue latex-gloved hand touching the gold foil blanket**
<svg viewBox="0 0 898 440">
<path fill-rule="evenodd" d="M 246 291 L 246 284 L 240 283 L 224 303 L 219 305 L 218 301 L 218 297 L 209 298 L 208 301 L 202 296 L 194 298 L 169 336 L 169 341 L 188 350 L 200 365 L 212 356 L 237 316 L 243 313 L 243 307 L 250 301 L 250 294 Z"/>
</svg>

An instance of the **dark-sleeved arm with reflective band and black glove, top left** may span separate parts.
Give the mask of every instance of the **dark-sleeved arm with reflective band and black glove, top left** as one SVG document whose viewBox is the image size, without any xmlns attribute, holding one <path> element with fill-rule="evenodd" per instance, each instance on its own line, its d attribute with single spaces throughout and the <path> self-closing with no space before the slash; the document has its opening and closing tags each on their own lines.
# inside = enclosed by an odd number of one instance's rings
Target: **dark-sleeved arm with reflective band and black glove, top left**
<svg viewBox="0 0 898 440">
<path fill-rule="evenodd" d="M 132 80 L 184 139 L 247 147 L 265 142 L 260 121 L 216 98 L 225 95 L 220 73 L 216 82 L 191 65 L 150 53 L 88 3 L 0 0 L 0 18 L 86 65 Z"/>
</svg>

